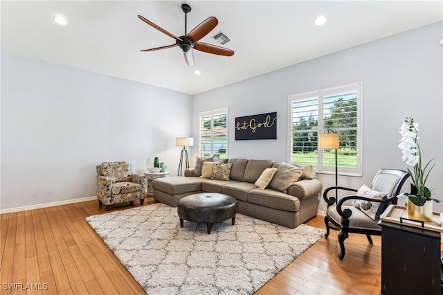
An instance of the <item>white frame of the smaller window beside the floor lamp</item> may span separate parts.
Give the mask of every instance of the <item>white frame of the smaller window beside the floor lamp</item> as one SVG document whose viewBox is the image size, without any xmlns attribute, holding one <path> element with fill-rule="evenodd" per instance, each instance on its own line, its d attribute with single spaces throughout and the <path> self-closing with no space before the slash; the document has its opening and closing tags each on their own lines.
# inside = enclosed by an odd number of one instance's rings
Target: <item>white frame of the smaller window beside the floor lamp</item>
<svg viewBox="0 0 443 295">
<path fill-rule="evenodd" d="M 201 134 L 201 117 L 204 116 L 210 116 L 210 121 L 211 121 L 211 134 L 210 134 L 210 150 L 211 150 L 211 155 L 214 155 L 214 159 L 219 159 L 219 152 L 218 150 L 215 151 L 215 143 L 214 143 L 214 120 L 215 120 L 215 116 L 219 115 L 219 114 L 226 114 L 226 144 L 225 144 L 225 156 L 224 158 L 228 158 L 228 152 L 229 152 L 229 108 L 228 107 L 223 107 L 220 109 L 213 109 L 210 111 L 199 111 L 199 113 L 197 114 L 198 118 L 198 123 L 197 123 L 197 128 L 198 128 L 198 138 L 199 138 L 199 157 L 208 157 L 207 155 L 204 154 L 204 149 L 202 149 L 203 147 L 203 143 L 202 143 L 202 134 Z"/>
</svg>

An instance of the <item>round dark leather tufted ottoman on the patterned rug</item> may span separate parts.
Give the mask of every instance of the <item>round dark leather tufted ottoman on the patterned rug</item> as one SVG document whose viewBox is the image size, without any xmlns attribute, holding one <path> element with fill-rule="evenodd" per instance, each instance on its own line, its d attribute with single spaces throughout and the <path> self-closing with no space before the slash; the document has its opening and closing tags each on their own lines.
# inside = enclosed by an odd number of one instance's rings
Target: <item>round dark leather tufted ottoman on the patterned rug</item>
<svg viewBox="0 0 443 295">
<path fill-rule="evenodd" d="M 180 217 L 180 227 L 183 227 L 183 220 L 204 222 L 210 234 L 210 228 L 214 222 L 232 218 L 232 224 L 235 224 L 237 200 L 219 193 L 188 195 L 179 199 L 177 213 Z"/>
</svg>

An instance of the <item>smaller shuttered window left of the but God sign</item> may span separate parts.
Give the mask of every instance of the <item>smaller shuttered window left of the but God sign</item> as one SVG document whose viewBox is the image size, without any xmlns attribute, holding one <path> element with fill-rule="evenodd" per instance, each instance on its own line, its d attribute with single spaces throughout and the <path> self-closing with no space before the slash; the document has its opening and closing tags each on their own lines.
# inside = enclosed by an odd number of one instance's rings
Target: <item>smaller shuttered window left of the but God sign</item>
<svg viewBox="0 0 443 295">
<path fill-rule="evenodd" d="M 228 109 L 199 113 L 199 155 L 225 159 L 228 154 Z"/>
</svg>

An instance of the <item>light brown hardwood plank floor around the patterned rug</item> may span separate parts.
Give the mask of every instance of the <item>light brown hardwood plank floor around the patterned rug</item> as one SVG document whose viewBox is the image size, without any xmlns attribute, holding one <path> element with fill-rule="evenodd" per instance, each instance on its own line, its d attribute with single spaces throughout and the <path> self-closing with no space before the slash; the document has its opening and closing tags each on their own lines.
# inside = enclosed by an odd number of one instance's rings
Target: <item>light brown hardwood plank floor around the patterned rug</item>
<svg viewBox="0 0 443 295">
<path fill-rule="evenodd" d="M 0 294 L 145 294 L 85 220 L 102 213 L 90 201 L 0 215 Z M 323 216 L 307 224 L 325 227 Z M 256 294 L 379 294 L 381 241 L 372 239 L 351 234 L 342 261 L 332 231 Z"/>
</svg>

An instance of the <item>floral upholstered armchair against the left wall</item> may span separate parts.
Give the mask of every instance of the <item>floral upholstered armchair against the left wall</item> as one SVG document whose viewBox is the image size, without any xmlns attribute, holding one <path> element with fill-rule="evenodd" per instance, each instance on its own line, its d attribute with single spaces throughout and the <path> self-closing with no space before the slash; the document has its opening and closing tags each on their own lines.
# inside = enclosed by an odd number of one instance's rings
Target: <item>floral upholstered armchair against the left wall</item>
<svg viewBox="0 0 443 295">
<path fill-rule="evenodd" d="M 101 206 L 145 201 L 145 175 L 132 174 L 129 162 L 103 162 L 96 166 L 97 199 Z"/>
</svg>

